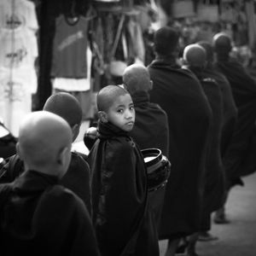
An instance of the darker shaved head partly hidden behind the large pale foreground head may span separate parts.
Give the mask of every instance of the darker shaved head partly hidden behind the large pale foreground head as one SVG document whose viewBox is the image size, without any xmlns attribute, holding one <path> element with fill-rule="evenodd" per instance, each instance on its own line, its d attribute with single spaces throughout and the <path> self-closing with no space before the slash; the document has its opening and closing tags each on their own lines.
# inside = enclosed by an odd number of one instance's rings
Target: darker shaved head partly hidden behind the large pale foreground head
<svg viewBox="0 0 256 256">
<path fill-rule="evenodd" d="M 43 110 L 55 113 L 65 119 L 73 131 L 73 141 L 78 137 L 83 112 L 75 96 L 67 92 L 55 93 L 49 96 L 44 103 Z"/>
</svg>

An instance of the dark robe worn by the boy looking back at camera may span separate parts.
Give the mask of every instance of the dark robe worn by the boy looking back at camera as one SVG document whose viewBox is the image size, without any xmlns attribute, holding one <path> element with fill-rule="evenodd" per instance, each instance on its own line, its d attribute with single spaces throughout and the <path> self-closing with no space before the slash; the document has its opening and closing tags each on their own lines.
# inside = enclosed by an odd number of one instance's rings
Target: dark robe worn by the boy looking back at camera
<svg viewBox="0 0 256 256">
<path fill-rule="evenodd" d="M 93 224 L 103 256 L 159 255 L 154 217 L 148 211 L 143 155 L 127 132 L 99 123 L 90 149 Z M 129 254 L 130 255 L 130 254 Z"/>
</svg>

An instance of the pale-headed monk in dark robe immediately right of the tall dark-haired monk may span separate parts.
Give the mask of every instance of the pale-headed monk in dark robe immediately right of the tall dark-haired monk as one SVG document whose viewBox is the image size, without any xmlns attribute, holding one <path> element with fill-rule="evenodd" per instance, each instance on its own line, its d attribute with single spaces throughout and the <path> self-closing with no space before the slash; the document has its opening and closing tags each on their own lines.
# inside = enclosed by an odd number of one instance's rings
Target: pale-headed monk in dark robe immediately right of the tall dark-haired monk
<svg viewBox="0 0 256 256">
<path fill-rule="evenodd" d="M 200 80 L 208 102 L 212 108 L 212 124 L 209 134 L 204 186 L 203 215 L 199 240 L 217 239 L 211 230 L 211 214 L 222 206 L 224 201 L 224 168 L 220 154 L 221 131 L 223 125 L 223 96 L 220 86 L 214 79 L 204 76 L 207 53 L 199 44 L 189 44 L 183 50 L 184 68 L 188 68 Z M 195 254 L 195 242 L 190 243 L 189 255 Z"/>
</svg>

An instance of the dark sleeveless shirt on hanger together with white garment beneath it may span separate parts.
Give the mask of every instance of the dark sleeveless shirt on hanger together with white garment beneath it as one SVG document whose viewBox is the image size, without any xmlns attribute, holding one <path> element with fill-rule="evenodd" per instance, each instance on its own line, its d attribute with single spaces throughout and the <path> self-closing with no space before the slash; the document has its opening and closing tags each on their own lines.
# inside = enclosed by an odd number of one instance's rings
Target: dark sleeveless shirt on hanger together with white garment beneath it
<svg viewBox="0 0 256 256">
<path fill-rule="evenodd" d="M 79 100 L 83 119 L 90 118 L 92 52 L 89 41 L 90 20 L 96 17 L 90 7 L 85 15 L 76 13 L 73 0 L 69 13 L 55 19 L 51 79 L 53 91 L 67 91 Z"/>
</svg>

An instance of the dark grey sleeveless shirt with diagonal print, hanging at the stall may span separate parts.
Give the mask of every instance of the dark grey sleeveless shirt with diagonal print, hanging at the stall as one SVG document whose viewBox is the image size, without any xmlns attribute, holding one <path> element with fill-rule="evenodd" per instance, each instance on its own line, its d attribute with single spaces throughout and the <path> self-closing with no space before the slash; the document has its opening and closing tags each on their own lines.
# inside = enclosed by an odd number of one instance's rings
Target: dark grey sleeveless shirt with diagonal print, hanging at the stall
<svg viewBox="0 0 256 256">
<path fill-rule="evenodd" d="M 51 76 L 81 79 L 87 76 L 88 20 L 60 15 L 55 21 Z M 84 56 L 82 55 L 84 53 Z"/>
</svg>

